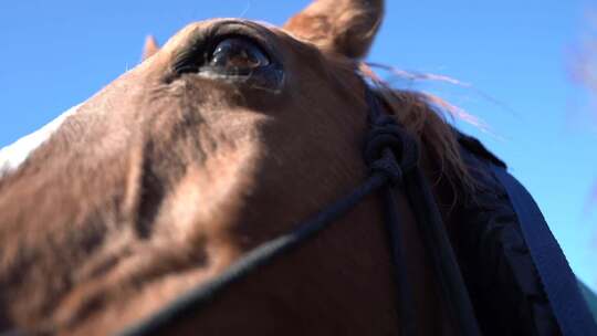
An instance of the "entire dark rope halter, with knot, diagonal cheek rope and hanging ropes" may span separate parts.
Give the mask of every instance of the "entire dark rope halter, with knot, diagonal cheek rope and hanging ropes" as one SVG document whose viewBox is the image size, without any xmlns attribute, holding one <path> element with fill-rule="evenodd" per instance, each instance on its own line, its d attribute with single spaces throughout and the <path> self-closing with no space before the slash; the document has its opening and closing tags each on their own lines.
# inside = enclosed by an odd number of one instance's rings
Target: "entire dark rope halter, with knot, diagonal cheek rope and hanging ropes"
<svg viewBox="0 0 597 336">
<path fill-rule="evenodd" d="M 459 334 L 465 336 L 481 335 L 439 210 L 418 167 L 419 150 L 417 143 L 404 132 L 395 118 L 385 113 L 380 99 L 368 86 L 365 95 L 369 105 L 370 124 L 370 130 L 365 141 L 365 161 L 370 168 L 370 176 L 359 188 L 298 225 L 295 231 L 268 241 L 250 251 L 216 280 L 197 287 L 121 335 L 140 336 L 167 333 L 177 321 L 188 318 L 198 311 L 206 308 L 220 292 L 232 283 L 273 259 L 298 248 L 301 243 L 331 227 L 348 210 L 375 191 L 380 191 L 384 197 L 385 222 L 398 288 L 396 291 L 398 321 L 402 322 L 400 326 L 401 335 L 415 335 L 416 321 L 411 291 L 406 272 L 400 272 L 405 270 L 405 266 L 399 243 L 398 228 L 400 219 L 395 197 L 395 190 L 398 188 L 405 191 L 415 212 L 418 228 L 425 239 L 426 249 L 432 256 L 433 267 L 440 280 L 443 300 L 449 305 L 452 319 L 457 322 L 455 326 Z"/>
</svg>

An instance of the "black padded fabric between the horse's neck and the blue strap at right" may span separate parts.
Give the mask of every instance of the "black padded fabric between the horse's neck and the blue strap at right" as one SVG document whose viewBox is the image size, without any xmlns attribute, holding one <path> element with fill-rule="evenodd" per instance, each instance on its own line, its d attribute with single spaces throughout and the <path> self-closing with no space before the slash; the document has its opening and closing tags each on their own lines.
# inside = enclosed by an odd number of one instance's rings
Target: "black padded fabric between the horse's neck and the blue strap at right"
<svg viewBox="0 0 597 336">
<path fill-rule="evenodd" d="M 505 165 L 461 135 L 463 159 L 479 189 L 454 211 L 458 253 L 483 335 L 561 335 L 506 190 L 491 165 Z"/>
</svg>

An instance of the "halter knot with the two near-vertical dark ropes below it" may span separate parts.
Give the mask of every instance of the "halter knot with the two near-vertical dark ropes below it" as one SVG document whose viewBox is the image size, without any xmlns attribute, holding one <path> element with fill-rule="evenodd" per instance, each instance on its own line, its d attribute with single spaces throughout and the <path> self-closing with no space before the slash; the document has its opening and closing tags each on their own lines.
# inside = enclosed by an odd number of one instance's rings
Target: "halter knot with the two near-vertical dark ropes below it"
<svg viewBox="0 0 597 336">
<path fill-rule="evenodd" d="M 397 183 L 405 183 L 405 192 L 416 216 L 426 248 L 432 256 L 432 265 L 440 281 L 441 294 L 450 307 L 452 321 L 455 321 L 460 335 L 481 335 L 441 214 L 431 190 L 417 166 L 419 160 L 418 145 L 396 123 L 394 117 L 383 113 L 380 99 L 375 96 L 375 93 L 367 90 L 366 96 L 370 106 L 371 129 L 367 136 L 365 160 L 374 171 L 376 169 L 385 171 L 395 187 Z M 399 158 L 399 164 L 396 157 Z M 395 197 L 392 191 L 388 190 L 384 192 L 386 227 L 391 235 L 392 262 L 396 265 L 396 272 L 400 272 L 400 270 L 405 271 L 406 267 L 402 264 L 404 256 L 399 245 L 399 220 L 396 213 Z M 417 330 L 413 316 L 416 313 L 406 272 L 397 274 L 396 282 L 400 296 L 397 297 L 397 306 L 399 307 L 399 316 L 401 315 L 401 329 L 405 335 L 415 335 Z"/>
</svg>

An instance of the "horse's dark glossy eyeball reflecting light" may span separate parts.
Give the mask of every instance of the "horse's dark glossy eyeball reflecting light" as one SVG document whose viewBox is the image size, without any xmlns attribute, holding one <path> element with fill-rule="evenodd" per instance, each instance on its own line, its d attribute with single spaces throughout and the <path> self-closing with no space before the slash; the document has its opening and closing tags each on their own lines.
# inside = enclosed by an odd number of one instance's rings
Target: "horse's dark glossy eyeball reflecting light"
<svg viewBox="0 0 597 336">
<path fill-rule="evenodd" d="M 226 73 L 247 73 L 269 64 L 270 59 L 259 45 L 241 38 L 221 41 L 209 62 L 210 67 Z"/>
</svg>

